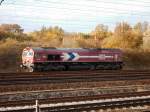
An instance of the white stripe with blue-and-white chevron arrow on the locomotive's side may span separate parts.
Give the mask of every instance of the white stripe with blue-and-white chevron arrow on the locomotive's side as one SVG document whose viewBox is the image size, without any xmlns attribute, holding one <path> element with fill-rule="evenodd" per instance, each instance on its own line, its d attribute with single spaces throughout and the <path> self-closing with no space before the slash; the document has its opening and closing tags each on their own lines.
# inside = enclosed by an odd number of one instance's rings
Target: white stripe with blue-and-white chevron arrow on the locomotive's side
<svg viewBox="0 0 150 112">
<path fill-rule="evenodd" d="M 80 56 L 78 53 L 63 53 L 61 58 L 63 58 L 63 61 L 76 61 L 79 58 L 99 58 L 100 60 L 108 59 L 108 58 L 113 58 L 112 55 L 105 55 L 105 54 L 99 54 L 98 56 Z"/>
</svg>

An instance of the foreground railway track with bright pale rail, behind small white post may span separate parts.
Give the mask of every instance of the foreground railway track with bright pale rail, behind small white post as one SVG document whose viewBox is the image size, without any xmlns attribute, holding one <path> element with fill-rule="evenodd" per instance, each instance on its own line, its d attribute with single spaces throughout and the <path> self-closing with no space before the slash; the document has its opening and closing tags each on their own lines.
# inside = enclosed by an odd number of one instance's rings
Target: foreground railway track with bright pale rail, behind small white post
<svg viewBox="0 0 150 112">
<path fill-rule="evenodd" d="M 128 108 L 130 106 L 150 106 L 150 92 L 50 98 L 38 101 L 42 112 L 79 112 L 108 108 Z M 33 112 L 35 110 L 35 101 L 3 102 L 0 103 L 0 110 L 7 112 Z"/>
</svg>

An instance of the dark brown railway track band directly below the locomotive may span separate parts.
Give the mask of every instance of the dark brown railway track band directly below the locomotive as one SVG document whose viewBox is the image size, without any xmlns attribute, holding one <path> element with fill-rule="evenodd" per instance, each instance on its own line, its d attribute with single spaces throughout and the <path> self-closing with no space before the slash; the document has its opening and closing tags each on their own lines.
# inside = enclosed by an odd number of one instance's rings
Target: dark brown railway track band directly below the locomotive
<svg viewBox="0 0 150 112">
<path fill-rule="evenodd" d="M 91 81 L 150 79 L 150 71 L 61 71 L 45 73 L 0 73 L 0 86 Z"/>
</svg>

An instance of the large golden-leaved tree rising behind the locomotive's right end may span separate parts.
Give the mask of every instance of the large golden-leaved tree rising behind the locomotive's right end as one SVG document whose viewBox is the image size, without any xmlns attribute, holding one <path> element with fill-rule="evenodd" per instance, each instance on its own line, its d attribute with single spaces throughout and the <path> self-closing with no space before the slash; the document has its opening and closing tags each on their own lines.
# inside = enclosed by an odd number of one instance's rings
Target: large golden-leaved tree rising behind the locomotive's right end
<svg viewBox="0 0 150 112">
<path fill-rule="evenodd" d="M 139 48 L 142 45 L 142 33 L 140 24 L 132 28 L 128 23 L 122 22 L 116 25 L 114 35 L 105 39 L 105 47 Z"/>
</svg>

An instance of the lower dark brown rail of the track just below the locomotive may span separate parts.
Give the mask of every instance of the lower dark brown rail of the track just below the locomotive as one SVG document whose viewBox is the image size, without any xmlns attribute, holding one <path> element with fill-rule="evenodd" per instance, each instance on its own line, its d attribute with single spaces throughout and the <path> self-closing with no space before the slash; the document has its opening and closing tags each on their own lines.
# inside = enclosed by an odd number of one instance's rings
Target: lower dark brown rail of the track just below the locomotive
<svg viewBox="0 0 150 112">
<path fill-rule="evenodd" d="M 113 77 L 46 77 L 46 78 L 21 78 L 13 80 L 0 80 L 0 86 L 19 84 L 50 84 L 50 83 L 73 83 L 73 82 L 93 82 L 93 81 L 129 81 L 146 80 L 150 76 L 113 76 Z"/>
</svg>

